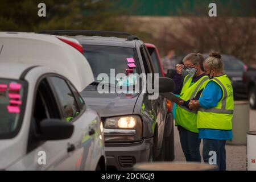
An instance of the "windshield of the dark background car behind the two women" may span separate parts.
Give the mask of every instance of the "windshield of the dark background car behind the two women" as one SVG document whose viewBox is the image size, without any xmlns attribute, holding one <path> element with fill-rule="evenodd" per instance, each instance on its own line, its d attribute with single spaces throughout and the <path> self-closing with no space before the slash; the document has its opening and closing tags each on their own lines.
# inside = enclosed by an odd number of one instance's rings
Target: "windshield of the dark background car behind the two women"
<svg viewBox="0 0 256 182">
<path fill-rule="evenodd" d="M 245 70 L 245 64 L 233 56 L 222 56 L 222 60 L 224 61 L 225 71 L 243 72 Z"/>
</svg>

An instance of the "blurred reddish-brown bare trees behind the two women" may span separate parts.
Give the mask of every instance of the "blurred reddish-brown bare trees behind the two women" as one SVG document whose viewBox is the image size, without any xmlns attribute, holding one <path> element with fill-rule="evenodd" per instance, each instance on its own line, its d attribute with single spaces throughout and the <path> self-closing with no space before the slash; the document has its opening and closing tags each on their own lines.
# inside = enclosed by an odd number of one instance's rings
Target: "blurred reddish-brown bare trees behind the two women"
<svg viewBox="0 0 256 182">
<path fill-rule="evenodd" d="M 179 31 L 163 27 L 156 44 L 166 53 L 174 48 L 178 53 L 218 51 L 233 55 L 245 63 L 256 60 L 255 18 L 203 18 L 180 19 Z"/>
</svg>

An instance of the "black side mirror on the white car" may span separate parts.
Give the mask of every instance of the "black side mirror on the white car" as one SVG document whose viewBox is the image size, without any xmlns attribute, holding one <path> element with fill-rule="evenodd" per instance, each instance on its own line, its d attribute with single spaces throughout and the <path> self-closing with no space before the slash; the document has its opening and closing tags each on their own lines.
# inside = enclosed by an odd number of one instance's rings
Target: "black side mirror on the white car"
<svg viewBox="0 0 256 182">
<path fill-rule="evenodd" d="M 60 119 L 44 119 L 40 122 L 40 140 L 61 140 L 72 136 L 74 126 Z"/>
</svg>

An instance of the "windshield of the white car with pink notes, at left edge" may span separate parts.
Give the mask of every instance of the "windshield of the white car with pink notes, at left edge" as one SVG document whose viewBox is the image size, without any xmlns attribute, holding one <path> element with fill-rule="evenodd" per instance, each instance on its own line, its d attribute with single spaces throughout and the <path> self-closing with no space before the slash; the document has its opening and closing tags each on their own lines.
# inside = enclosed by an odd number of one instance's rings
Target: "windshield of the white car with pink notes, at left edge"
<svg viewBox="0 0 256 182">
<path fill-rule="evenodd" d="M 23 111 L 24 84 L 0 78 L 0 138 L 13 133 Z M 8 137 L 7 137 L 8 138 Z"/>
</svg>

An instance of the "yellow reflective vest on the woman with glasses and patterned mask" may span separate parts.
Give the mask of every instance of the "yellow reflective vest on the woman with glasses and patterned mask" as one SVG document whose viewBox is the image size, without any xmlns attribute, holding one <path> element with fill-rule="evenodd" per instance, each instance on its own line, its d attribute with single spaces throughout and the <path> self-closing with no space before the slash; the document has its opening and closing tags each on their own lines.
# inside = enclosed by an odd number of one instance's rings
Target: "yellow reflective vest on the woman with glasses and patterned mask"
<svg viewBox="0 0 256 182">
<path fill-rule="evenodd" d="M 189 77 L 188 75 L 185 76 L 183 80 L 183 87 L 180 92 L 180 98 L 182 98 L 184 101 L 193 100 L 193 98 L 196 97 L 196 94 L 201 89 L 204 89 L 208 81 L 209 77 L 203 76 L 193 85 L 191 85 L 192 77 Z M 184 127 L 184 129 L 187 129 L 194 133 L 198 133 L 199 131 L 197 129 L 197 112 L 189 110 L 185 106 L 177 106 L 175 125 Z"/>
</svg>

